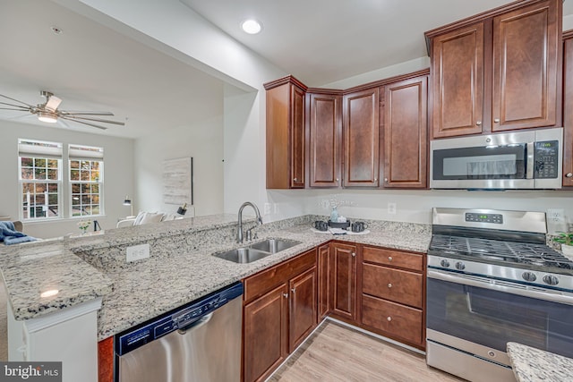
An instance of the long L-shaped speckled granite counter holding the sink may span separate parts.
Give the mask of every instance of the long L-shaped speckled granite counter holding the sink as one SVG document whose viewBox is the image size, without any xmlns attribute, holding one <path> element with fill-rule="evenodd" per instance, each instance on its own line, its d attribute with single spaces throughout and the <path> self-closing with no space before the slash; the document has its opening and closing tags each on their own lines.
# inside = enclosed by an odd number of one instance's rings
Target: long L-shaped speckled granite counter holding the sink
<svg viewBox="0 0 573 382">
<path fill-rule="evenodd" d="M 14 313 L 18 311 L 17 319 L 72 306 L 81 302 L 79 298 L 85 301 L 103 296 L 98 312 L 101 340 L 323 242 L 336 239 L 426 252 L 432 236 L 431 225 L 385 221 L 368 221 L 370 233 L 367 234 L 333 236 L 312 232 L 310 222 L 321 217 L 301 216 L 257 227 L 259 240 L 275 237 L 301 243 L 250 264 L 236 264 L 211 256 L 239 246 L 235 243 L 236 216 L 226 215 L 121 228 L 77 241 L 37 243 L 35 247 L 22 245 L 19 250 L 0 254 L 0 267 Z M 125 263 L 125 247 L 140 242 L 150 242 L 150 259 Z M 22 255 L 30 263 L 24 265 Z M 23 269 L 26 276 L 18 276 L 24 274 Z M 56 297 L 38 297 L 38 288 L 46 275 L 55 283 L 72 277 L 56 296 L 57 300 Z"/>
</svg>

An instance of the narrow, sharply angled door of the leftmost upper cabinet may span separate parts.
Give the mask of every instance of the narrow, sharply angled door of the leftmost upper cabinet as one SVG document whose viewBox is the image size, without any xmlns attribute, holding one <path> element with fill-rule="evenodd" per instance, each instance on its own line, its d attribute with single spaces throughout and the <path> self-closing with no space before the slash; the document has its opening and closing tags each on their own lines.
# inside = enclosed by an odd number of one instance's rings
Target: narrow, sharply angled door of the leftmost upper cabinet
<svg viewBox="0 0 573 382">
<path fill-rule="evenodd" d="M 290 187 L 304 189 L 304 90 L 291 86 Z"/>
</svg>

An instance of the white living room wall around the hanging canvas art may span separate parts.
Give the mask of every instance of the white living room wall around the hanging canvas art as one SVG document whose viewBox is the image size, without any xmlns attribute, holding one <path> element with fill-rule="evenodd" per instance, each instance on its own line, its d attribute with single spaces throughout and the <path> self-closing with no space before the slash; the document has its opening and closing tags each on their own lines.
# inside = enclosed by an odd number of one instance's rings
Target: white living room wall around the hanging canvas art
<svg viewBox="0 0 573 382">
<path fill-rule="evenodd" d="M 182 157 L 193 158 L 195 215 L 223 212 L 223 116 L 220 115 L 210 121 L 190 121 L 189 125 L 135 141 L 134 214 L 138 210 L 176 212 L 179 206 L 163 203 L 162 164 L 166 159 Z M 193 208 L 187 209 L 187 216 L 193 216 Z"/>
</svg>

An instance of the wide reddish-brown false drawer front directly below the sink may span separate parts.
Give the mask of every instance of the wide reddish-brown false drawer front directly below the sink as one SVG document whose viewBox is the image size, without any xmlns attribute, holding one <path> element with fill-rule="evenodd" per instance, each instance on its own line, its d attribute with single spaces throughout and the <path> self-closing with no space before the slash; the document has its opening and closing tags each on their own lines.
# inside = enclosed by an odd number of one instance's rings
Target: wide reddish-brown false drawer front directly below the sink
<svg viewBox="0 0 573 382">
<path fill-rule="evenodd" d="M 278 284 L 286 283 L 290 278 L 316 265 L 316 249 L 304 252 L 294 259 L 286 260 L 274 267 L 265 269 L 256 275 L 244 279 L 244 301 L 251 301 L 263 293 L 269 292 Z"/>
</svg>

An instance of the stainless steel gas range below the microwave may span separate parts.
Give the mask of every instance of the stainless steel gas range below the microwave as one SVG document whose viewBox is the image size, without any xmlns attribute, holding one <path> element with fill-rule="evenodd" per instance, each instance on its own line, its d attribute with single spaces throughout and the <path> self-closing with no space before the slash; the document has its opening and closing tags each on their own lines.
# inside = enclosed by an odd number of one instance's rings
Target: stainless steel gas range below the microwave
<svg viewBox="0 0 573 382">
<path fill-rule="evenodd" d="M 433 208 L 426 361 L 471 381 L 515 381 L 510 341 L 573 357 L 573 261 L 543 212 Z"/>
</svg>

